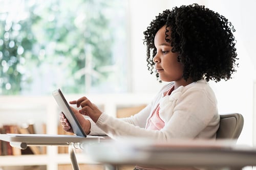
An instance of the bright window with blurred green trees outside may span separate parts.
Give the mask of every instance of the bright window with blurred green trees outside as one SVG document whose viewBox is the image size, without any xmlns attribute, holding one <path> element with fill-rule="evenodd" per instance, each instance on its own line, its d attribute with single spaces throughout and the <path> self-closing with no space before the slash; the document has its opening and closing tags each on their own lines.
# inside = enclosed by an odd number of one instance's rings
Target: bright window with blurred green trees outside
<svg viewBox="0 0 256 170">
<path fill-rule="evenodd" d="M 126 92 L 126 1 L 1 1 L 0 94 Z"/>
</svg>

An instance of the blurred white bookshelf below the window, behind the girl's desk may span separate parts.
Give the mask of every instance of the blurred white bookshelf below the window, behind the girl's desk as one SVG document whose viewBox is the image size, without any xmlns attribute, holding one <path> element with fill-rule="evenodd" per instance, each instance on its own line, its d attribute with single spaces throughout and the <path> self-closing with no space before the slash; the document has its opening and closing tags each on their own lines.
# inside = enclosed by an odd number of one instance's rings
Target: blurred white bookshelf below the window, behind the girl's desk
<svg viewBox="0 0 256 170">
<path fill-rule="evenodd" d="M 66 95 L 68 101 L 80 98 L 79 94 Z M 114 117 L 134 114 L 150 103 L 152 94 L 104 94 L 87 95 L 102 111 Z M 50 96 L 0 96 L 0 127 L 5 125 L 23 126 L 33 124 L 35 133 L 58 134 L 58 106 Z M 68 148 L 68 147 L 67 147 Z M 60 153 L 60 147 L 49 146 L 40 154 L 0 156 L 0 169 L 3 170 L 56 170 L 71 169 L 69 154 Z M 90 160 L 90 155 L 76 151 L 81 167 L 103 169 L 103 166 Z"/>
</svg>

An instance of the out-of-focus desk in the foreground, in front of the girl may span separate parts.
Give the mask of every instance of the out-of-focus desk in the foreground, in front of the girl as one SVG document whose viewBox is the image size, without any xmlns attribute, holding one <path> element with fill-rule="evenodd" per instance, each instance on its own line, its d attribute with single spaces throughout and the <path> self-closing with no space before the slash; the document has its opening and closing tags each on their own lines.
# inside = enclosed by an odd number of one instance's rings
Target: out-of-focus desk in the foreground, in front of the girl
<svg viewBox="0 0 256 170">
<path fill-rule="evenodd" d="M 168 144 L 110 142 L 95 143 L 86 148 L 97 162 L 113 165 L 146 165 L 150 167 L 203 167 L 241 169 L 256 165 L 256 149 L 230 141 L 185 141 Z"/>
</svg>

